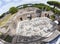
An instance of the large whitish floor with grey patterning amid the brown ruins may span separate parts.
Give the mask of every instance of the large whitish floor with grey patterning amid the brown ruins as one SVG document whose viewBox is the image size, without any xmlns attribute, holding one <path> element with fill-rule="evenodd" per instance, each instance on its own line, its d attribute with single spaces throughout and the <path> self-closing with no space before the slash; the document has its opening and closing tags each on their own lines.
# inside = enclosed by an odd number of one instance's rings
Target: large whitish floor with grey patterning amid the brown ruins
<svg viewBox="0 0 60 44">
<path fill-rule="evenodd" d="M 22 36 L 47 36 L 51 33 L 48 30 L 53 27 L 51 22 L 51 19 L 47 17 L 21 21 L 18 23 L 16 34 Z"/>
</svg>

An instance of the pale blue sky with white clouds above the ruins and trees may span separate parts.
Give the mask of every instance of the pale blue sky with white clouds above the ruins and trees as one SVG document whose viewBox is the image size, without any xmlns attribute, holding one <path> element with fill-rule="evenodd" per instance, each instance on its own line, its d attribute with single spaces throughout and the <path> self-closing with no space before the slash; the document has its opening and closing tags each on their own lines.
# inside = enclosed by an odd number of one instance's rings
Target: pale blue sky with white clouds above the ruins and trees
<svg viewBox="0 0 60 44">
<path fill-rule="evenodd" d="M 9 10 L 10 7 L 16 7 L 18 5 L 22 4 L 28 4 L 28 3 L 45 3 L 48 0 L 0 0 L 0 15 L 2 13 L 5 13 Z M 59 0 L 55 0 L 59 1 Z"/>
</svg>

